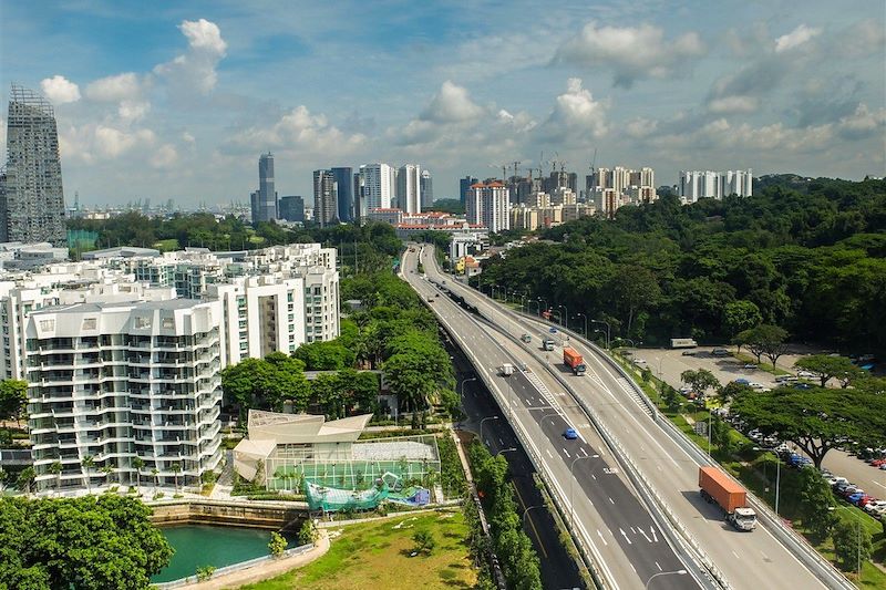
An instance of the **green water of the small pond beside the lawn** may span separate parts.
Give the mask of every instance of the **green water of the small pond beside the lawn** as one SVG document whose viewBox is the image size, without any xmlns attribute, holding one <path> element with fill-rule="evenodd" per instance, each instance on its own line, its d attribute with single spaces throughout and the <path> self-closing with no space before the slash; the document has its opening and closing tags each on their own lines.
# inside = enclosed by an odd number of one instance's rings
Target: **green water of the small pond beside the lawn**
<svg viewBox="0 0 886 590">
<path fill-rule="evenodd" d="M 168 582 L 194 576 L 204 566 L 222 568 L 269 553 L 269 530 L 185 525 L 161 531 L 175 555 L 166 569 L 151 578 L 152 582 Z M 291 542 L 289 546 L 293 547 Z"/>
</svg>

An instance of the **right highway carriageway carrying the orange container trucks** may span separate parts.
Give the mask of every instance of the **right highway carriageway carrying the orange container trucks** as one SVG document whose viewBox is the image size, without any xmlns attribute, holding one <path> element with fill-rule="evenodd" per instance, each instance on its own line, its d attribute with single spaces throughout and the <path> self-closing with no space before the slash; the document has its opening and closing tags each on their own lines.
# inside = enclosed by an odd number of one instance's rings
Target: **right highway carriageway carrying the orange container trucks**
<svg viewBox="0 0 886 590">
<path fill-rule="evenodd" d="M 429 279 L 439 282 L 446 280 L 447 277 L 436 267 L 430 247 L 425 247 L 423 252 L 422 262 Z M 759 590 L 845 587 L 826 566 L 812 571 L 766 527 L 759 526 L 753 532 L 739 532 L 728 526 L 719 509 L 704 503 L 699 496 L 697 457 L 684 451 L 662 429 L 630 383 L 600 353 L 574 338 L 570 339 L 568 344 L 584 355 L 588 366 L 586 375 L 574 376 L 560 363 L 562 345 L 568 337 L 559 333 L 555 338 L 558 340 L 555 351 L 540 352 L 538 342 L 542 337 L 550 335 L 550 324 L 522 317 L 451 278 L 446 287 L 475 306 L 499 330 L 516 338 L 523 333 L 533 337 L 532 344 L 523 345 L 525 354 L 522 358 L 546 358 L 553 374 L 537 372 L 542 382 L 552 391 L 566 389 L 564 383 L 567 383 L 575 395 L 596 412 L 606 428 L 618 438 L 626 454 L 643 473 L 663 505 L 682 524 L 687 538 L 693 539 L 696 546 L 707 553 L 719 570 L 718 573 L 731 588 Z M 593 495 L 594 491 L 589 490 L 589 494 Z M 828 583 L 825 584 L 823 579 Z"/>
</svg>

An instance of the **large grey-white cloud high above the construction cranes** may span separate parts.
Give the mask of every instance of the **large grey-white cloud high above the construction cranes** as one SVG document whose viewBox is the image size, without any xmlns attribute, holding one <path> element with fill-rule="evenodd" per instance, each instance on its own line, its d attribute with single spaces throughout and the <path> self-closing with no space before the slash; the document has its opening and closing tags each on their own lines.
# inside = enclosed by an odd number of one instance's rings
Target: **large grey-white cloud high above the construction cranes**
<svg viewBox="0 0 886 590">
<path fill-rule="evenodd" d="M 660 27 L 598 27 L 590 21 L 559 46 L 554 61 L 611 68 L 615 84 L 629 87 L 636 80 L 672 75 L 705 51 L 694 32 L 666 40 Z"/>
</svg>

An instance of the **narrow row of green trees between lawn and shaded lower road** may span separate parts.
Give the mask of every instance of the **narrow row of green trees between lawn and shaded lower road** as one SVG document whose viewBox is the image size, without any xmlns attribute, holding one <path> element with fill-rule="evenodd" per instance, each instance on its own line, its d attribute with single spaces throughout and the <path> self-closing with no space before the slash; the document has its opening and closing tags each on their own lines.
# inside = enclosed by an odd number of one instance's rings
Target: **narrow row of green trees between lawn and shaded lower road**
<svg viewBox="0 0 886 590">
<path fill-rule="evenodd" d="M 538 555 L 523 532 L 517 504 L 514 501 L 514 488 L 507 478 L 507 462 L 501 455 L 492 456 L 476 441 L 471 445 L 468 456 L 477 490 L 483 494 L 493 549 L 498 556 L 508 587 L 522 590 L 540 589 Z"/>
</svg>

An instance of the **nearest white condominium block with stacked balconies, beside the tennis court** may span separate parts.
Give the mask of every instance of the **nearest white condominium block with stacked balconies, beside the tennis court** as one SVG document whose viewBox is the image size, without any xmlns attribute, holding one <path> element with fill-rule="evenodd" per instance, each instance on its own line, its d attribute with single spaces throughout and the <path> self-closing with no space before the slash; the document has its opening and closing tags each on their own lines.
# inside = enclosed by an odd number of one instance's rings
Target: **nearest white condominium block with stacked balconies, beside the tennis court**
<svg viewBox="0 0 886 590">
<path fill-rule="evenodd" d="M 218 301 L 32 313 L 28 423 L 37 489 L 136 485 L 140 477 L 198 484 L 222 457 L 224 335 Z"/>
</svg>

